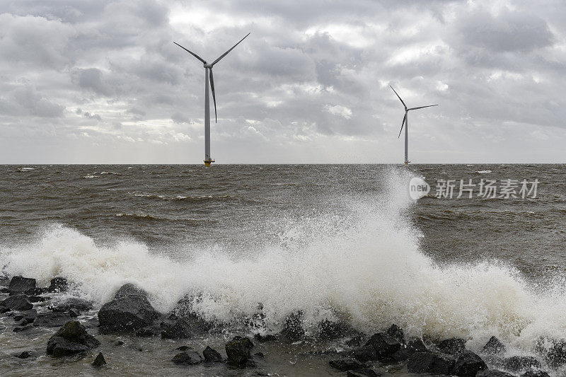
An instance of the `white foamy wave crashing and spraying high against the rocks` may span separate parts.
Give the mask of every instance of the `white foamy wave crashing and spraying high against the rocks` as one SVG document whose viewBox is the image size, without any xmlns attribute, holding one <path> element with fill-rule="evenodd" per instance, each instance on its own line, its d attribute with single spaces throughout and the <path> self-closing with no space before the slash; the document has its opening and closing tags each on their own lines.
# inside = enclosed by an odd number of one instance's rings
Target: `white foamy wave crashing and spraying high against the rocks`
<svg viewBox="0 0 566 377">
<path fill-rule="evenodd" d="M 409 178 L 394 170 L 387 195 L 344 199 L 348 214 L 289 221 L 279 243 L 250 250 L 253 256 L 186 244 L 173 260 L 144 243 L 100 245 L 57 225 L 32 243 L 1 246 L 0 262 L 8 274 L 44 284 L 67 277 L 99 304 L 125 282 L 148 291 L 163 312 L 198 296 L 193 310 L 222 323 L 253 315 L 261 303 L 273 330 L 301 310 L 307 326 L 328 317 L 365 332 L 397 323 L 409 336 L 465 337 L 472 349 L 492 335 L 526 351 L 541 337 L 565 338 L 561 279 L 536 289 L 499 262 L 439 265 L 421 253 L 422 233 L 408 216 L 415 205 L 405 190 Z"/>
</svg>

